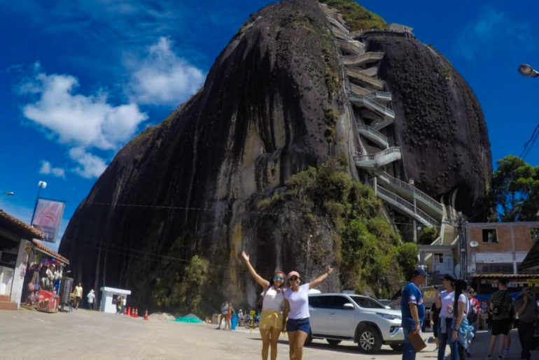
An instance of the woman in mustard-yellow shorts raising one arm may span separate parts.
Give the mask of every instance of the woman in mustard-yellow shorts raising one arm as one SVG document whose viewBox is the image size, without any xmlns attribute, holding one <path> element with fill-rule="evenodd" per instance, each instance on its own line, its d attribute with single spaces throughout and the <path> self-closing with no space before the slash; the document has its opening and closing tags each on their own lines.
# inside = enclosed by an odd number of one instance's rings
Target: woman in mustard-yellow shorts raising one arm
<svg viewBox="0 0 539 360">
<path fill-rule="evenodd" d="M 262 278 L 249 262 L 249 256 L 244 251 L 241 256 L 255 281 L 264 290 L 262 292 L 262 313 L 260 314 L 260 336 L 262 336 L 262 360 L 267 360 L 268 348 L 271 345 L 271 359 L 277 358 L 277 341 L 283 328 L 284 305 L 284 273 L 275 271 L 271 282 Z"/>
</svg>

